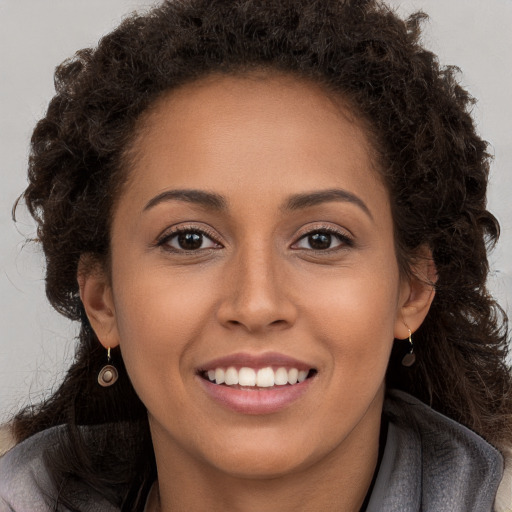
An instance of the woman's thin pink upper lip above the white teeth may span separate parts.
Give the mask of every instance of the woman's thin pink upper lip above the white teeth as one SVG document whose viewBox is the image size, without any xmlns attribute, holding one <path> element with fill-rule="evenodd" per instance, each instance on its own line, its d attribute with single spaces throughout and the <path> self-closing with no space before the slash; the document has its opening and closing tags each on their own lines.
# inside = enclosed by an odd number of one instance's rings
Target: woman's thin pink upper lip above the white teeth
<svg viewBox="0 0 512 512">
<path fill-rule="evenodd" d="M 215 368 L 266 368 L 268 366 L 297 368 L 297 370 L 315 369 L 314 365 L 295 359 L 294 357 L 277 352 L 265 352 L 262 354 L 248 354 L 239 352 L 219 357 L 208 361 L 198 368 L 199 372 L 214 370 Z"/>
</svg>

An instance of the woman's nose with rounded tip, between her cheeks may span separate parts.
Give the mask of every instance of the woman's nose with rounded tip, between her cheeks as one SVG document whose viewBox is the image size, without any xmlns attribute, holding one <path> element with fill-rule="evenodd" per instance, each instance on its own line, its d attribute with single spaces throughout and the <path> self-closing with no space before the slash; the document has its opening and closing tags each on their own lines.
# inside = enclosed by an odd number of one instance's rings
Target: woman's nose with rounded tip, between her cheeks
<svg viewBox="0 0 512 512">
<path fill-rule="evenodd" d="M 226 268 L 219 322 L 249 333 L 286 329 L 297 318 L 290 280 L 279 256 L 268 250 L 240 252 Z"/>
</svg>

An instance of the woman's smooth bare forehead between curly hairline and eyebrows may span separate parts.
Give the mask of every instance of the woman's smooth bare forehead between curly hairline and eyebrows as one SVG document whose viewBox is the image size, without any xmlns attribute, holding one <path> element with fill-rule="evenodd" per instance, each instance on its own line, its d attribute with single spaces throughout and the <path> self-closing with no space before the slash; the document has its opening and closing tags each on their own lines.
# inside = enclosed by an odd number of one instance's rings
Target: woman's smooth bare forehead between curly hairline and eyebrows
<svg viewBox="0 0 512 512">
<path fill-rule="evenodd" d="M 142 117 L 128 188 L 382 188 L 373 153 L 363 120 L 318 84 L 212 75 L 169 92 Z"/>
</svg>

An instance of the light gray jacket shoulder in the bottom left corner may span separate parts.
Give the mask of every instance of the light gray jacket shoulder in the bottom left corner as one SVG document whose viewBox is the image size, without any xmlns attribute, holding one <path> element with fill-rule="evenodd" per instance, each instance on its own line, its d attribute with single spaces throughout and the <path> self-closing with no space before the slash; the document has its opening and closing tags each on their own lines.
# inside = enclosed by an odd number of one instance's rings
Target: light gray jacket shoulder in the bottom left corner
<svg viewBox="0 0 512 512">
<path fill-rule="evenodd" d="M 39 432 L 0 458 L 0 511 L 49 510 L 51 479 L 44 453 L 57 442 L 57 428 Z"/>
</svg>

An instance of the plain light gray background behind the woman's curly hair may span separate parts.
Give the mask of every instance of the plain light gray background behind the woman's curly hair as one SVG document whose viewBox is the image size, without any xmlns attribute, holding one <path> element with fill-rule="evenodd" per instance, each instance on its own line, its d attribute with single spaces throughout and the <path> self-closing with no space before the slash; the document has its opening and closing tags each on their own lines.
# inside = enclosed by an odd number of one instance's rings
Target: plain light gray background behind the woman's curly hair
<svg viewBox="0 0 512 512">
<path fill-rule="evenodd" d="M 44 261 L 23 208 L 29 138 L 53 95 L 53 69 L 94 45 L 122 17 L 150 0 L 0 0 L 0 422 L 55 389 L 74 350 L 76 326 L 51 310 Z M 512 304 L 512 0 L 390 0 L 402 13 L 430 15 L 424 42 L 443 64 L 457 64 L 478 98 L 474 115 L 495 162 L 489 205 L 502 224 L 492 254 L 491 288 Z"/>
</svg>

